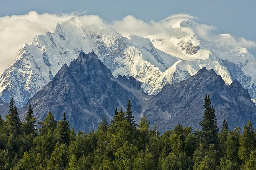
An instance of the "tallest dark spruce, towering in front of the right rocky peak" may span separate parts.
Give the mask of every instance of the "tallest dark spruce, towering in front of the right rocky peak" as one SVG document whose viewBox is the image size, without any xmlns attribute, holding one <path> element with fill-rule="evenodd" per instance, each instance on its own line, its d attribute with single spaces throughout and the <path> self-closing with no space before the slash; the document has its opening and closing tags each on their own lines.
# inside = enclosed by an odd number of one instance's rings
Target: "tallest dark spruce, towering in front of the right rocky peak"
<svg viewBox="0 0 256 170">
<path fill-rule="evenodd" d="M 210 144 L 214 144 L 218 146 L 219 139 L 218 139 L 218 126 L 217 121 L 215 118 L 214 111 L 215 109 L 210 107 L 211 101 L 209 95 L 205 95 L 205 104 L 203 105 L 205 108 L 203 120 L 200 122 L 202 126 L 203 134 L 202 134 L 202 146 L 204 148 L 208 148 Z"/>
</svg>

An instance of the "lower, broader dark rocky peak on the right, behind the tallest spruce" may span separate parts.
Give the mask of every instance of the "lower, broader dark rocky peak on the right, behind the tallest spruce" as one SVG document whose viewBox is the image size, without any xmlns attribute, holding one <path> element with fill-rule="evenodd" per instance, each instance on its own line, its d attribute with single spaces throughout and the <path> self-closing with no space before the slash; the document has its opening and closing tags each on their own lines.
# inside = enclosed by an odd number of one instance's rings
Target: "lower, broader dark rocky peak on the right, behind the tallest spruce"
<svg viewBox="0 0 256 170">
<path fill-rule="evenodd" d="M 224 118 L 230 129 L 243 127 L 249 119 L 256 125 L 256 105 L 248 91 L 237 79 L 226 85 L 220 75 L 205 67 L 184 81 L 164 86 L 144 113 L 151 122 L 158 118 L 160 131 L 173 128 L 177 123 L 201 128 L 205 94 L 210 96 L 215 108 L 219 128 Z"/>
</svg>

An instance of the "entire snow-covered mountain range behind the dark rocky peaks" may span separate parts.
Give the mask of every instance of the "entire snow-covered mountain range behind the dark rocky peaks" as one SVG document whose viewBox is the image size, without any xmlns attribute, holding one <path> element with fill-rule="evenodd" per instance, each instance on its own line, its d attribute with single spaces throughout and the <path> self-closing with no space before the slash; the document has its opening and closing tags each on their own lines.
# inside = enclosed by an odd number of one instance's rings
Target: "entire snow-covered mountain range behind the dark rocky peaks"
<svg viewBox="0 0 256 170">
<path fill-rule="evenodd" d="M 185 80 L 206 67 L 228 84 L 237 78 L 256 98 L 256 60 L 245 48 L 232 49 L 222 42 L 231 35 L 211 41 L 197 35 L 193 31 L 197 23 L 190 20 L 163 22 L 185 34 L 123 37 L 112 27 L 82 26 L 74 16 L 57 24 L 54 32 L 36 35 L 31 44 L 22 46 L 0 77 L 0 97 L 9 102 L 13 96 L 22 107 L 83 50 L 86 54 L 94 51 L 114 76 L 135 77 L 148 94 L 157 94 L 165 84 Z"/>
</svg>

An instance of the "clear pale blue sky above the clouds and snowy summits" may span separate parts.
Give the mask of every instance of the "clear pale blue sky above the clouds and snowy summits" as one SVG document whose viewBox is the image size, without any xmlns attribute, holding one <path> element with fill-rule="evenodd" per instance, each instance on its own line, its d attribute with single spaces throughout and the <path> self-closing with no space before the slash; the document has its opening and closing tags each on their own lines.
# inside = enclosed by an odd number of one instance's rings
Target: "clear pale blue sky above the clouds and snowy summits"
<svg viewBox="0 0 256 170">
<path fill-rule="evenodd" d="M 145 22 L 159 21 L 177 13 L 199 17 L 196 22 L 214 25 L 218 34 L 231 33 L 256 41 L 256 1 L 0 1 L 0 17 L 23 15 L 29 11 L 38 14 L 86 11 L 111 22 L 133 15 Z M 256 56 L 256 49 L 249 49 Z"/>
</svg>

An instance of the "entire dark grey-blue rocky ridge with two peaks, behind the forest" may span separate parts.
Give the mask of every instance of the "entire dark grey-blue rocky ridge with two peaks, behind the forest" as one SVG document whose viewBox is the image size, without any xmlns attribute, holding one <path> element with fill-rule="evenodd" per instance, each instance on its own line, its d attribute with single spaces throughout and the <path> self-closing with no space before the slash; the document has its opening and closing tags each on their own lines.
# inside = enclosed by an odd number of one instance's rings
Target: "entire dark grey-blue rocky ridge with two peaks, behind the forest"
<svg viewBox="0 0 256 170">
<path fill-rule="evenodd" d="M 69 66 L 64 64 L 53 80 L 37 92 L 20 109 L 26 112 L 31 104 L 38 121 L 48 111 L 59 120 L 63 111 L 76 130 L 96 129 L 104 115 L 114 116 L 115 107 L 125 109 L 131 101 L 135 120 L 145 115 L 153 124 L 158 118 L 160 131 L 174 128 L 177 123 L 200 128 L 204 108 L 203 97 L 209 94 L 216 109 L 218 126 L 226 118 L 229 128 L 242 127 L 252 120 L 256 124 L 256 105 L 238 80 L 227 85 L 212 69 L 203 67 L 197 74 L 172 85 L 165 85 L 157 95 L 148 95 L 133 77 L 115 78 L 94 52 L 82 51 Z M 152 125 L 151 124 L 151 125 Z"/>
</svg>

